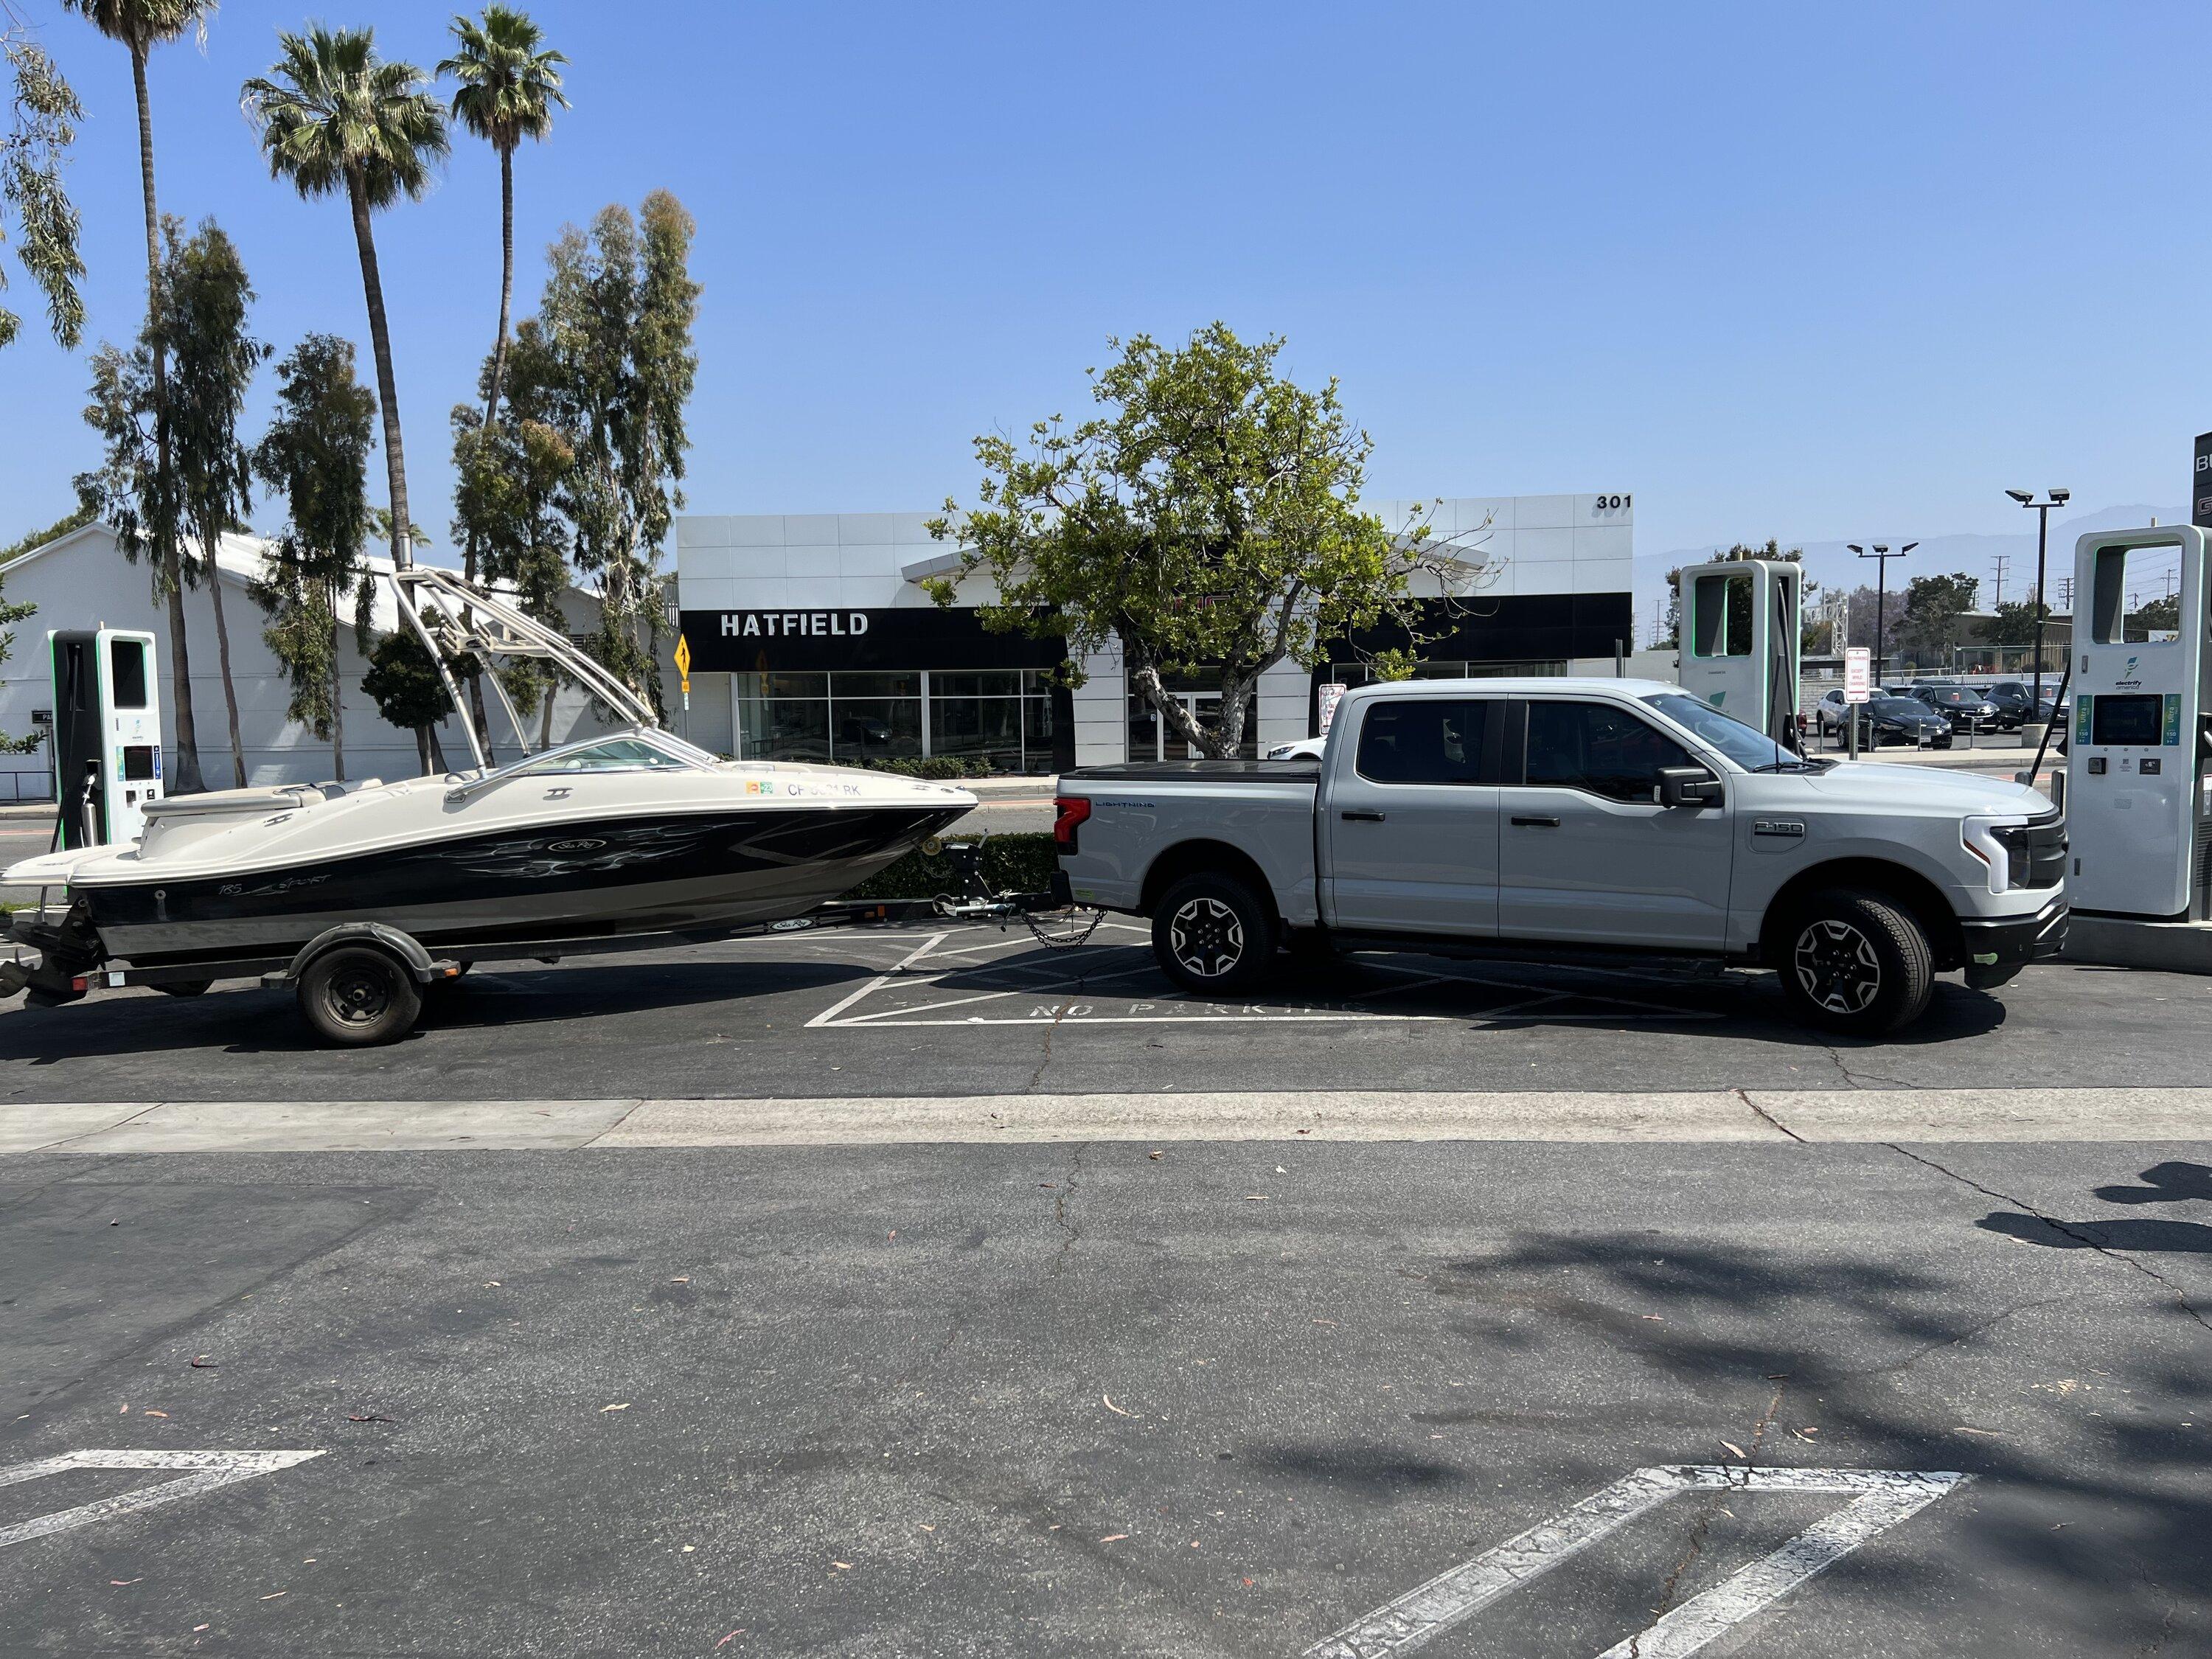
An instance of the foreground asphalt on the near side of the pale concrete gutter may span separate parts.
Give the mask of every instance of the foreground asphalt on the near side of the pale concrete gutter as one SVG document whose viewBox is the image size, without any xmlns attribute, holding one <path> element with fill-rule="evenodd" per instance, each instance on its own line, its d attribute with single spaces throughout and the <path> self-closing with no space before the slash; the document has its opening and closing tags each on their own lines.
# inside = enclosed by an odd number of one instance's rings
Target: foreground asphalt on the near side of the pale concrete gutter
<svg viewBox="0 0 2212 1659">
<path fill-rule="evenodd" d="M 18 1157 L 0 1482 L 316 1455 L 0 1484 L 0 1652 L 2205 1652 L 2205 1157 Z"/>
</svg>

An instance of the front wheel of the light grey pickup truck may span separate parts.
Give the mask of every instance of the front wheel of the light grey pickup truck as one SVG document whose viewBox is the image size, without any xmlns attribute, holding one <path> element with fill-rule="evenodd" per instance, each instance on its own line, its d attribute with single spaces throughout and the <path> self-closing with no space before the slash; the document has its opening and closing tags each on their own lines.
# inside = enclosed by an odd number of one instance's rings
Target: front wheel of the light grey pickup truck
<svg viewBox="0 0 2212 1659">
<path fill-rule="evenodd" d="M 1805 1024 L 1880 1037 L 1927 1013 L 1936 956 L 1920 922 L 1849 887 L 1814 898 L 1783 929 L 1783 998 Z"/>
</svg>

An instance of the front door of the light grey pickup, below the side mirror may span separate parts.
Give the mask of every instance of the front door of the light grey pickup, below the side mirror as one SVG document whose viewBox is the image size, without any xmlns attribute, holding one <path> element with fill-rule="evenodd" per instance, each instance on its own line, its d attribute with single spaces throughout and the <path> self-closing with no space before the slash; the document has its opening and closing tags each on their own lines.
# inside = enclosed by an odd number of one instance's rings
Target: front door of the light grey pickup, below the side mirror
<svg viewBox="0 0 2212 1659">
<path fill-rule="evenodd" d="M 1659 805 L 1659 770 L 1705 765 L 1624 703 L 1544 697 L 1506 721 L 1498 931 L 1719 951 L 1730 805 Z M 1721 776 L 1725 774 L 1708 768 Z"/>
</svg>

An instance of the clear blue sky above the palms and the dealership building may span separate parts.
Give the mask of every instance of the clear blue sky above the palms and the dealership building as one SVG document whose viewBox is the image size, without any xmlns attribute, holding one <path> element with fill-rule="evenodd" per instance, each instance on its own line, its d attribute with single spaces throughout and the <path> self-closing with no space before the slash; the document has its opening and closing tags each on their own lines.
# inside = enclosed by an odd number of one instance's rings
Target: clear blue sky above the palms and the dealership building
<svg viewBox="0 0 2212 1659">
<path fill-rule="evenodd" d="M 91 106 L 91 341 L 122 338 L 128 66 L 22 7 Z M 971 498 L 973 434 L 1077 411 L 1110 334 L 1214 316 L 1343 380 L 1374 495 L 1632 491 L 1644 555 L 2015 533 L 2006 484 L 2179 504 L 2212 427 L 2203 7 L 533 11 L 575 108 L 518 157 L 518 314 L 564 221 L 655 186 L 692 208 L 692 511 Z M 367 338 L 343 208 L 272 184 L 239 115 L 305 15 L 226 0 L 153 69 L 161 206 L 232 232 L 279 347 Z M 447 44 L 436 4 L 314 15 L 422 64 Z M 495 321 L 491 153 L 456 139 L 378 248 L 445 542 L 447 409 Z M 86 354 L 31 330 L 0 354 L 0 540 L 93 460 Z"/>
</svg>

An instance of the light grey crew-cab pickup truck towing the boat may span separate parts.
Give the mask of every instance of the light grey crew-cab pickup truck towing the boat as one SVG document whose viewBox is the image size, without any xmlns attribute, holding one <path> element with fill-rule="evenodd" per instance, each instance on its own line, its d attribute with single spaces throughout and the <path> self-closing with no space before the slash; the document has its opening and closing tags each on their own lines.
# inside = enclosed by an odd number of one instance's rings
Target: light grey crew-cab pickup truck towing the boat
<svg viewBox="0 0 2212 1659">
<path fill-rule="evenodd" d="M 1995 987 L 2066 940 L 2066 827 L 2035 790 L 1803 759 L 1679 686 L 1420 679 L 1336 708 L 1318 761 L 1060 779 L 1062 896 L 1152 918 L 1183 989 L 1279 949 L 1628 951 L 1765 964 L 1876 1035 L 1933 975 Z"/>
</svg>

